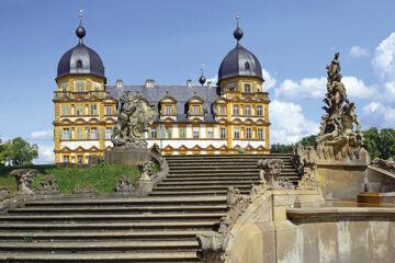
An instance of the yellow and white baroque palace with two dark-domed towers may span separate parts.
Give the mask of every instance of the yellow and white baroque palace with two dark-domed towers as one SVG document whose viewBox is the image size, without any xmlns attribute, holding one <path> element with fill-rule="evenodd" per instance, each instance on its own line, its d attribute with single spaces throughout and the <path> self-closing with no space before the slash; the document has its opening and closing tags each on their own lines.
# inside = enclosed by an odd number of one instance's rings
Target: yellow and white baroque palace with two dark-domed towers
<svg viewBox="0 0 395 263">
<path fill-rule="evenodd" d="M 81 14 L 80 14 L 81 18 Z M 269 153 L 269 94 L 263 92 L 262 68 L 241 46 L 242 31 L 223 59 L 218 82 L 203 75 L 201 85 L 108 85 L 100 56 L 84 45 L 78 26 L 77 46 L 65 53 L 57 68 L 55 91 L 55 162 L 88 163 L 90 156 L 112 149 L 117 100 L 125 91 L 158 107 L 158 117 L 146 132 L 148 147 L 157 144 L 165 155 Z"/>
</svg>

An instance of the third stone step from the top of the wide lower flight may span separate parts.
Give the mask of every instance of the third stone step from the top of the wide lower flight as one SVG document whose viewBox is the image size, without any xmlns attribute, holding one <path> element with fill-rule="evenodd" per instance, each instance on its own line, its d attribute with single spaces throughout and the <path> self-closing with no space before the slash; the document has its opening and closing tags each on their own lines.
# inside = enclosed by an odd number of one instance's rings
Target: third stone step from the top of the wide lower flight
<svg viewBox="0 0 395 263">
<path fill-rule="evenodd" d="M 138 214 L 138 215 L 27 215 L 27 216 L 0 216 L 0 226 L 3 222 L 12 221 L 13 224 L 26 221 L 167 221 L 167 220 L 213 220 L 218 219 L 226 214 L 224 213 L 173 213 L 173 214 Z"/>
</svg>

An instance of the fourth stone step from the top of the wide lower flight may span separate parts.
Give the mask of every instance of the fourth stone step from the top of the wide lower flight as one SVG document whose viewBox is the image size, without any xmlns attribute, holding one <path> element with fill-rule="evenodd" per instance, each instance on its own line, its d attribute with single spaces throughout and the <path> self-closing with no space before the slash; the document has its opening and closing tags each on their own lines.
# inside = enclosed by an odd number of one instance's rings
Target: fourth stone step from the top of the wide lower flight
<svg viewBox="0 0 395 263">
<path fill-rule="evenodd" d="M 10 230 L 203 230 L 212 229 L 218 225 L 217 220 L 194 220 L 194 221 L 143 221 L 143 222 L 24 222 L 24 224 L 0 224 L 0 231 Z"/>
</svg>

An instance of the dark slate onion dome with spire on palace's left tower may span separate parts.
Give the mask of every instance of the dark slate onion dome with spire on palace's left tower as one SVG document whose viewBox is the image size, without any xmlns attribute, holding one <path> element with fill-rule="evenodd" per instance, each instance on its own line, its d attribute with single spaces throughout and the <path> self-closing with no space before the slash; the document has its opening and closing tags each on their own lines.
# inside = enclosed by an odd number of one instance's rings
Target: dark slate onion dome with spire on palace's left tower
<svg viewBox="0 0 395 263">
<path fill-rule="evenodd" d="M 86 36 L 87 32 L 82 26 L 81 16 L 82 14 L 80 13 L 80 24 L 76 30 L 79 42 L 77 46 L 61 56 L 57 68 L 56 79 L 68 75 L 92 75 L 103 78 L 105 82 L 104 66 L 100 56 L 83 44 L 82 38 Z"/>
</svg>

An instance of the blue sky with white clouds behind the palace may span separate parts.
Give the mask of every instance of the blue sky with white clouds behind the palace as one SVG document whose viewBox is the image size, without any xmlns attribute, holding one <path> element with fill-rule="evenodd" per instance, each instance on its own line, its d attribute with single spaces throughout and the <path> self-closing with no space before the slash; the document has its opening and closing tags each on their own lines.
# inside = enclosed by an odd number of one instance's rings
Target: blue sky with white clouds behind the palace
<svg viewBox="0 0 395 263">
<path fill-rule="evenodd" d="M 272 100 L 272 142 L 317 133 L 336 52 L 363 128 L 395 126 L 394 1 L 0 0 L 0 136 L 38 144 L 38 162 L 53 160 L 54 79 L 77 44 L 80 9 L 109 84 L 198 82 L 201 64 L 215 79 L 239 11 L 241 44 L 260 60 Z"/>
</svg>

